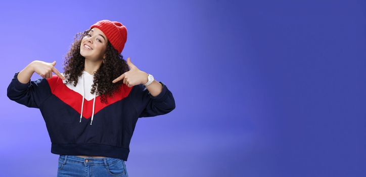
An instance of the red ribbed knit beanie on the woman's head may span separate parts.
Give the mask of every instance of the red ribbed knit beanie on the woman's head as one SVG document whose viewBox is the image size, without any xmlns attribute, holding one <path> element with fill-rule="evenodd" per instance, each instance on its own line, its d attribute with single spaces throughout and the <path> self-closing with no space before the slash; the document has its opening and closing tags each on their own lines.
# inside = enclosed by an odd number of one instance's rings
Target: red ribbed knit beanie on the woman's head
<svg viewBox="0 0 366 177">
<path fill-rule="evenodd" d="M 123 26 L 121 23 L 110 20 L 101 20 L 94 25 L 90 26 L 91 28 L 98 28 L 107 36 L 109 42 L 111 42 L 114 49 L 121 53 L 124 44 L 127 40 L 127 28 Z"/>
</svg>

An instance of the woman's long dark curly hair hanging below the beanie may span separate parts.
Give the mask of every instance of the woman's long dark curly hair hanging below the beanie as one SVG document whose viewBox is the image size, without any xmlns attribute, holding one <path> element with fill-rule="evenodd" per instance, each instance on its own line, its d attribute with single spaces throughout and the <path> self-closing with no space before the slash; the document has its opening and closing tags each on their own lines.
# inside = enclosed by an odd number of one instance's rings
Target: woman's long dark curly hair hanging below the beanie
<svg viewBox="0 0 366 177">
<path fill-rule="evenodd" d="M 85 57 L 80 54 L 80 44 L 82 38 L 89 31 L 90 29 L 76 34 L 71 49 L 66 54 L 63 63 L 64 74 L 68 76 L 65 77 L 67 79 L 66 83 L 72 83 L 74 81 L 74 86 L 76 86 L 78 77 L 81 76 L 84 70 Z M 127 72 L 129 68 L 123 56 L 113 48 L 109 41 L 105 54 L 105 62 L 94 72 L 94 84 L 90 93 L 94 94 L 97 92 L 97 95 L 101 96 L 101 102 L 108 103 L 107 97 L 111 97 L 115 92 L 119 91 L 123 84 L 122 80 L 115 83 L 112 81 L 124 72 Z"/>
</svg>

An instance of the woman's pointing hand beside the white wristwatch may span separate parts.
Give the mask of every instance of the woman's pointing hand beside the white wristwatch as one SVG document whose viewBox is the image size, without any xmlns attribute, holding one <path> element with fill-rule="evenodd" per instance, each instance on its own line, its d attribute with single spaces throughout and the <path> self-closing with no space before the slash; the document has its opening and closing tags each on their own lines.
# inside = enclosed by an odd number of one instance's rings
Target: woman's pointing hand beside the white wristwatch
<svg viewBox="0 0 366 177">
<path fill-rule="evenodd" d="M 130 70 L 123 73 L 112 82 L 118 82 L 123 79 L 123 84 L 126 84 L 128 87 L 132 87 L 138 84 L 145 84 L 148 82 L 148 74 L 144 71 L 141 71 L 138 67 L 131 63 L 129 57 L 127 58 L 127 65 L 129 66 Z"/>
</svg>

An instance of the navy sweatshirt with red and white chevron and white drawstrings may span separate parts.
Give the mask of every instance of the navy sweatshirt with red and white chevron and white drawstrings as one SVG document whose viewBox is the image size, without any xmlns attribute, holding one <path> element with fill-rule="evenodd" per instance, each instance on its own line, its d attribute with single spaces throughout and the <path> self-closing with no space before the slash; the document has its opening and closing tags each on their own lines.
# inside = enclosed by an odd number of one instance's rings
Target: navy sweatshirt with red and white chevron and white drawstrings
<svg viewBox="0 0 366 177">
<path fill-rule="evenodd" d="M 76 86 L 59 76 L 39 78 L 28 83 L 14 74 L 7 96 L 19 104 L 38 108 L 51 138 L 51 153 L 119 158 L 127 161 L 129 144 L 138 118 L 169 113 L 175 108 L 172 93 L 163 90 L 152 96 L 145 85 L 128 87 L 102 103 L 91 94 L 93 75 L 83 71 Z"/>
</svg>

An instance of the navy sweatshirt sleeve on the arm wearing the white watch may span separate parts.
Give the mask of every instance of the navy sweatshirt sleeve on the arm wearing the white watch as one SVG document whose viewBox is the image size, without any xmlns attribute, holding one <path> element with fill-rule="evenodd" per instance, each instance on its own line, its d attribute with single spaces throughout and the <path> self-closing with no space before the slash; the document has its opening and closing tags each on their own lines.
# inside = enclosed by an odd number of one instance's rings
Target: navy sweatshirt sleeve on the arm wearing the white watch
<svg viewBox="0 0 366 177">
<path fill-rule="evenodd" d="M 138 110 L 139 117 L 153 117 L 169 113 L 175 109 L 175 101 L 168 87 L 161 81 L 163 89 L 156 97 L 152 96 L 143 84 L 135 85 L 132 89 L 132 99 Z"/>
</svg>

